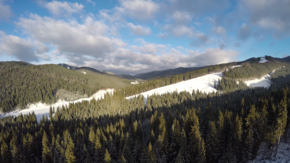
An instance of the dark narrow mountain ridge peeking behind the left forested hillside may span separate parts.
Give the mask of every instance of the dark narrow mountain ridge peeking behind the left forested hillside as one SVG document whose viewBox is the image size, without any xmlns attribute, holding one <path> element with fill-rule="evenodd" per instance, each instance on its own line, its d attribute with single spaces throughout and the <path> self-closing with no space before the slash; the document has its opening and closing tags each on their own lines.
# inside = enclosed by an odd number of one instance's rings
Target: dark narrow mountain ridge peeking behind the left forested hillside
<svg viewBox="0 0 290 163">
<path fill-rule="evenodd" d="M 135 81 L 143 82 L 144 81 L 144 80 L 138 79 L 138 78 L 136 78 L 136 77 L 134 77 L 132 75 L 117 75 L 117 74 L 111 73 L 109 71 L 102 71 L 102 70 L 99 71 L 99 70 L 96 70 L 96 69 L 91 68 L 91 67 L 74 67 L 74 66 L 67 65 L 65 63 L 59 63 L 58 65 L 61 66 L 61 67 L 70 69 L 70 70 L 89 70 L 89 71 L 92 71 L 92 72 L 97 73 L 97 74 L 102 74 L 102 75 L 122 78 L 122 79 L 129 80 L 131 82 L 135 82 Z"/>
</svg>

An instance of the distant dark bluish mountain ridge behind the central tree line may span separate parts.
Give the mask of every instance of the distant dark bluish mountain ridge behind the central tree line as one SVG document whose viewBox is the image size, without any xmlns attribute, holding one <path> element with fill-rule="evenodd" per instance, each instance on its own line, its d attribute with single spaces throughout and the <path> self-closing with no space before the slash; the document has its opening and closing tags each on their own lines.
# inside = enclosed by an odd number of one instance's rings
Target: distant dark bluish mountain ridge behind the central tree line
<svg viewBox="0 0 290 163">
<path fill-rule="evenodd" d="M 161 70 L 161 71 L 151 71 L 148 73 L 141 73 L 141 74 L 137 74 L 134 77 L 139 78 L 139 79 L 143 79 L 143 80 L 148 80 L 148 79 L 152 79 L 152 78 L 166 78 L 166 77 L 172 77 L 174 75 L 177 74 L 182 74 L 182 73 L 186 73 L 188 71 L 193 71 L 193 70 L 199 70 L 202 69 L 204 67 L 207 66 L 203 66 L 203 67 L 178 67 L 175 69 L 167 69 L 167 70 Z"/>
</svg>

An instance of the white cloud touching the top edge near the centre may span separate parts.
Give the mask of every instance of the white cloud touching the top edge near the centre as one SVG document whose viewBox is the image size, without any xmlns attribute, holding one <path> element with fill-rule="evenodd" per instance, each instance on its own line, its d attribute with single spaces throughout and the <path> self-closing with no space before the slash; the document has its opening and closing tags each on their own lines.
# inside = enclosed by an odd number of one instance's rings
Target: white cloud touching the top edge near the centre
<svg viewBox="0 0 290 163">
<path fill-rule="evenodd" d="M 118 0 L 117 14 L 123 14 L 138 20 L 150 20 L 155 17 L 159 5 L 152 0 Z"/>
</svg>

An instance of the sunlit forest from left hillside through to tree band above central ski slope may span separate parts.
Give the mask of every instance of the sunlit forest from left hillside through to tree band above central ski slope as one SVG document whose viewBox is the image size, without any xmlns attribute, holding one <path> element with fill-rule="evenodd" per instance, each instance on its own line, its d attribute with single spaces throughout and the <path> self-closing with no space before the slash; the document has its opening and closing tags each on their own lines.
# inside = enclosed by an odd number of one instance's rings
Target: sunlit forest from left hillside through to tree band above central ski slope
<svg viewBox="0 0 290 163">
<path fill-rule="evenodd" d="M 85 75 L 81 73 L 82 69 L 69 70 L 54 64 L 36 66 L 25 62 L 0 62 L 0 109 L 6 112 L 16 107 L 25 109 L 31 103 L 53 104 L 58 100 L 56 94 L 59 89 L 87 97 L 99 89 L 117 88 L 117 92 L 120 91 L 124 97 L 128 97 L 210 72 L 220 72 L 237 64 L 239 62 L 212 65 L 170 78 L 129 85 L 130 81 L 125 79 L 96 74 L 89 70 L 86 70 L 88 74 Z"/>
</svg>

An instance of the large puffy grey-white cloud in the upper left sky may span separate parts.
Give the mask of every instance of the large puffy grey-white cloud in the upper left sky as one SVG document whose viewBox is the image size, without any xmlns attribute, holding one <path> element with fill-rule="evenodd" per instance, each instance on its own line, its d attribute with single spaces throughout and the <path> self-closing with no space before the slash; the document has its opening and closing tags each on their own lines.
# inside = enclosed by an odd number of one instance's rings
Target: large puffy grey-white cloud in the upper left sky
<svg viewBox="0 0 290 163">
<path fill-rule="evenodd" d="M 117 47 L 127 46 L 122 40 L 108 37 L 104 23 L 87 17 L 84 24 L 76 21 L 54 20 L 30 14 L 17 23 L 33 39 L 51 44 L 59 53 L 72 53 L 94 56 L 95 58 L 113 52 Z"/>
</svg>

